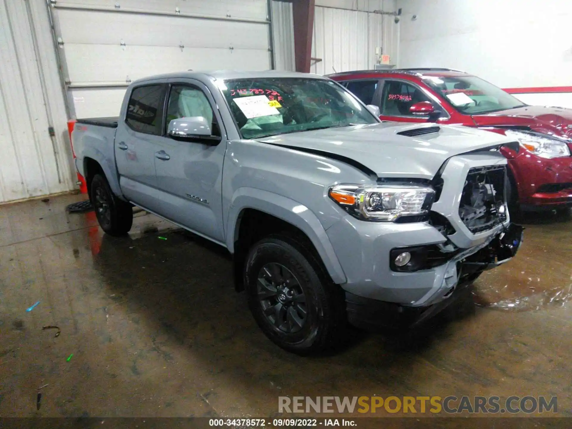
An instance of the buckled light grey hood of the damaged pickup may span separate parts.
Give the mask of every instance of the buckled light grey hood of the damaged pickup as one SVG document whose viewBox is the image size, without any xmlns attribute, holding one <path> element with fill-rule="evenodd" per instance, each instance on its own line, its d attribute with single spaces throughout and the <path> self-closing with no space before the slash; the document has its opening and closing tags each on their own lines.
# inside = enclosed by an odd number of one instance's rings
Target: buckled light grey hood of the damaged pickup
<svg viewBox="0 0 572 429">
<path fill-rule="evenodd" d="M 259 138 L 257 141 L 349 158 L 378 177 L 431 179 L 443 162 L 460 153 L 499 146 L 513 140 L 501 134 L 455 125 L 417 137 L 397 133 L 436 128 L 435 124 L 353 125 Z"/>
</svg>

